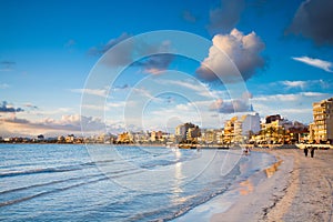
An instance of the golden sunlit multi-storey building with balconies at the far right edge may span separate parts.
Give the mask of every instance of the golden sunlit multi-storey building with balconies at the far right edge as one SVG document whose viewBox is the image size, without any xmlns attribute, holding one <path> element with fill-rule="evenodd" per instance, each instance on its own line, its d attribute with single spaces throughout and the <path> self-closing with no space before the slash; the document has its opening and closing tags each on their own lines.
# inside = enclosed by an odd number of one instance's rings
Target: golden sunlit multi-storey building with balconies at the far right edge
<svg viewBox="0 0 333 222">
<path fill-rule="evenodd" d="M 314 102 L 310 139 L 316 143 L 333 141 L 333 98 Z"/>
</svg>

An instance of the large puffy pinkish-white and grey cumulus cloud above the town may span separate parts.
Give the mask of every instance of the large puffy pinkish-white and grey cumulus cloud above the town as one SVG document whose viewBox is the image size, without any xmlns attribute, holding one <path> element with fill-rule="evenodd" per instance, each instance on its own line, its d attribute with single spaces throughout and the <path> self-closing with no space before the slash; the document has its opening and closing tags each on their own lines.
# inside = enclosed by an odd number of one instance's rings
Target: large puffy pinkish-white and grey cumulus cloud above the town
<svg viewBox="0 0 333 222">
<path fill-rule="evenodd" d="M 259 68 L 263 68 L 265 60 L 261 57 L 265 44 L 254 33 L 243 34 L 236 29 L 233 29 L 230 34 L 216 34 L 213 38 L 213 47 L 210 48 L 209 57 L 204 59 L 201 67 L 196 70 L 199 77 L 206 81 L 218 80 L 219 77 L 212 70 L 218 70 L 222 74 L 223 80 L 241 81 L 235 79 L 235 73 L 226 69 L 230 61 L 225 60 L 225 56 L 220 52 L 225 52 L 234 62 L 241 72 L 243 80 L 249 80 Z"/>
</svg>

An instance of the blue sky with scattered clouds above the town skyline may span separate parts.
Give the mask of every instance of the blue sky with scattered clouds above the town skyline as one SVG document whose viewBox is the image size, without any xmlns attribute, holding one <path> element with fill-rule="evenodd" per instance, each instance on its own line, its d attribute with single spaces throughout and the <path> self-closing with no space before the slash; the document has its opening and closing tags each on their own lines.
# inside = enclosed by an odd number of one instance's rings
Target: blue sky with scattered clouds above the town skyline
<svg viewBox="0 0 333 222">
<path fill-rule="evenodd" d="M 333 1 L 0 0 L 0 137 L 311 123 Z"/>
</svg>

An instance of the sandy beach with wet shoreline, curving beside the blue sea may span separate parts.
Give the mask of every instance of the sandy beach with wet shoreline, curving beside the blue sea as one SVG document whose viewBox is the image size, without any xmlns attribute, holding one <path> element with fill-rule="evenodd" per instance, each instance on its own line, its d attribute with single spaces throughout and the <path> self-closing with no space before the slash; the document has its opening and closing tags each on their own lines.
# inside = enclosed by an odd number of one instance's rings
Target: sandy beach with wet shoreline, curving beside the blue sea
<svg viewBox="0 0 333 222">
<path fill-rule="evenodd" d="M 299 149 L 258 151 L 278 162 L 178 221 L 332 221 L 333 150 L 315 150 L 314 158 Z"/>
</svg>

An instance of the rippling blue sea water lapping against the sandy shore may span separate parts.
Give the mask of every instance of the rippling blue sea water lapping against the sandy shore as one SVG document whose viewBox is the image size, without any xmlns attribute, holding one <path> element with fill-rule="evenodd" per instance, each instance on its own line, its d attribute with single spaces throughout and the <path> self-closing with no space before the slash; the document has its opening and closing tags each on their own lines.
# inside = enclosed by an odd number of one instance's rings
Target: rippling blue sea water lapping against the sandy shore
<svg viewBox="0 0 333 222">
<path fill-rule="evenodd" d="M 0 144 L 0 221 L 168 221 L 275 162 L 261 152 Z"/>
</svg>

